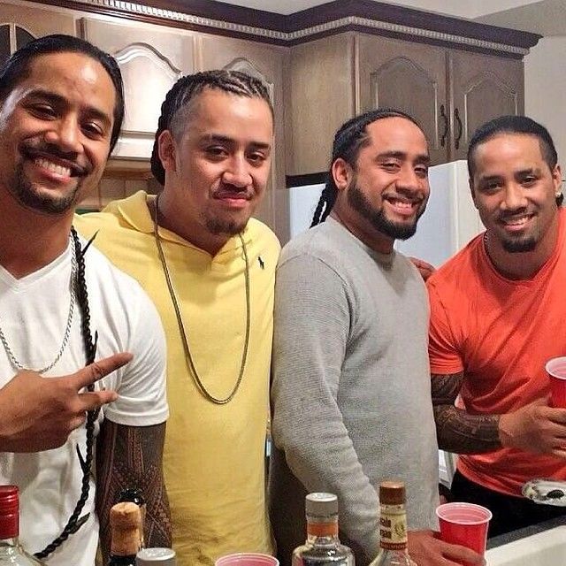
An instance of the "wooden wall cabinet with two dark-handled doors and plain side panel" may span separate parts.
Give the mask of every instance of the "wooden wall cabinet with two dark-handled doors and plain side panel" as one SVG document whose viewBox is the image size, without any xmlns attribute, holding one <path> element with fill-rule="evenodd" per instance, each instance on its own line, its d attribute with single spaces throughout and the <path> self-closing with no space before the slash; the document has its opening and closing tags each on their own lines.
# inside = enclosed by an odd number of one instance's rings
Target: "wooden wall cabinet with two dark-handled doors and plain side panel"
<svg viewBox="0 0 566 566">
<path fill-rule="evenodd" d="M 466 157 L 478 126 L 524 112 L 523 62 L 371 34 L 291 48 L 287 174 L 325 172 L 333 134 L 362 111 L 397 108 L 424 129 L 432 164 Z"/>
</svg>

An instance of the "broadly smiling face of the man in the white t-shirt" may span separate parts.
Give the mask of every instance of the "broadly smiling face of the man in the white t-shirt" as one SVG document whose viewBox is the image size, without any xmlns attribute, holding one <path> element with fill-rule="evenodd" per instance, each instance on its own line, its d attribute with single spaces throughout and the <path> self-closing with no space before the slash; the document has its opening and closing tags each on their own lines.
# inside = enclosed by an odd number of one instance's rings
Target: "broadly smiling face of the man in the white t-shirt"
<svg viewBox="0 0 566 566">
<path fill-rule="evenodd" d="M 35 57 L 0 107 L 0 190 L 62 214 L 96 187 L 110 151 L 115 88 L 95 59 Z"/>
</svg>

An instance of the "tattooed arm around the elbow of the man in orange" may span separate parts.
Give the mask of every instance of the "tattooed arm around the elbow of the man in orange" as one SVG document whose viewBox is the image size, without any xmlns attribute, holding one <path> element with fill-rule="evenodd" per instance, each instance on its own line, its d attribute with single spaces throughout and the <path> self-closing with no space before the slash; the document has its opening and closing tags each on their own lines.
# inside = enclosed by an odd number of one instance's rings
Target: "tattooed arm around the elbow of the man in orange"
<svg viewBox="0 0 566 566">
<path fill-rule="evenodd" d="M 432 408 L 441 450 L 481 454 L 501 447 L 499 415 L 470 415 L 454 406 L 463 372 L 432 375 Z"/>
</svg>

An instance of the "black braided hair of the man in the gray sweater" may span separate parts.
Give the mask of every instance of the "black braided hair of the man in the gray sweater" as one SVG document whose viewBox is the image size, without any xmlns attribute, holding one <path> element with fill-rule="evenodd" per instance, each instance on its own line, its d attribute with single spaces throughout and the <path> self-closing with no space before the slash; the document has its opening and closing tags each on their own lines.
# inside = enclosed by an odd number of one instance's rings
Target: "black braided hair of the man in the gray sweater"
<svg viewBox="0 0 566 566">
<path fill-rule="evenodd" d="M 417 120 L 409 116 L 409 114 L 394 108 L 378 108 L 376 110 L 367 111 L 342 124 L 338 132 L 334 135 L 333 157 L 328 169 L 325 188 L 320 195 L 317 208 L 312 217 L 311 228 L 325 221 L 331 210 L 333 210 L 334 203 L 336 202 L 338 187 L 336 187 L 333 178 L 332 168 L 334 162 L 336 159 L 341 158 L 355 169 L 360 149 L 367 146 L 370 142 L 367 134 L 367 126 L 376 120 L 384 118 L 404 118 L 410 120 L 419 128 L 421 127 L 417 123 Z"/>
</svg>

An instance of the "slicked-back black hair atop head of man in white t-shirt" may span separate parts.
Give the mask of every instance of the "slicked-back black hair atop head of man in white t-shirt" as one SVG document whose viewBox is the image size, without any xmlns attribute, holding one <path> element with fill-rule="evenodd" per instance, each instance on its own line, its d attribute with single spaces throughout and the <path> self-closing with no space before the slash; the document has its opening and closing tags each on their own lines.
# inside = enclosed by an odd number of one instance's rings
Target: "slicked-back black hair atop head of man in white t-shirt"
<svg viewBox="0 0 566 566">
<path fill-rule="evenodd" d="M 116 59 L 99 50 L 92 43 L 79 37 L 65 34 L 53 34 L 39 37 L 21 47 L 5 62 L 0 70 L 0 103 L 10 95 L 11 91 L 22 80 L 29 76 L 29 67 L 36 57 L 52 53 L 80 53 L 86 55 L 103 65 L 106 73 L 110 75 L 116 90 L 116 104 L 114 106 L 114 125 L 112 126 L 110 153 L 116 142 L 124 121 L 124 84 Z"/>
</svg>

